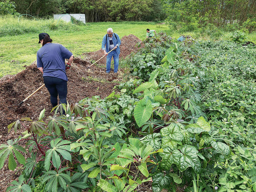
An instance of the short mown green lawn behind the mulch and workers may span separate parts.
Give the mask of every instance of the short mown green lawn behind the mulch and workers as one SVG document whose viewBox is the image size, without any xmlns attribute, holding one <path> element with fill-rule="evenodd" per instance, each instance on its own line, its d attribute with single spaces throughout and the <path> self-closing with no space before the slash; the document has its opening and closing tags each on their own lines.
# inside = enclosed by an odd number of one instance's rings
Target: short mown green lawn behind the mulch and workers
<svg viewBox="0 0 256 192">
<path fill-rule="evenodd" d="M 84 26 L 75 26 L 76 30 L 46 30 L 46 32 L 53 39 L 53 42 L 64 45 L 75 57 L 82 53 L 99 50 L 102 38 L 109 27 L 113 28 L 113 31 L 120 38 L 124 35 L 133 34 L 142 40 L 146 37 L 147 28 L 155 29 L 156 32 L 165 31 L 170 34 L 167 25 L 160 26 L 152 22 L 133 23 L 90 23 Z M 24 70 L 22 66 L 30 65 L 36 60 L 36 52 L 40 47 L 38 33 L 0 37 L 0 77 Z"/>
</svg>

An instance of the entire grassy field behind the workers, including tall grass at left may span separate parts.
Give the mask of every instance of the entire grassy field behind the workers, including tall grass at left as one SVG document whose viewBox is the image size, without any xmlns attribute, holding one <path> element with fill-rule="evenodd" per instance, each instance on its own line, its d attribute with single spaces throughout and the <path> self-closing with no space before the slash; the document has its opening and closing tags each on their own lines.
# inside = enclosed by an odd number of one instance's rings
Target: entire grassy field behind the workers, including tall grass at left
<svg viewBox="0 0 256 192">
<path fill-rule="evenodd" d="M 146 37 L 146 29 L 155 29 L 156 32 L 164 31 L 172 37 L 178 38 L 180 33 L 172 31 L 168 25 L 154 22 L 104 22 L 89 23 L 87 25 L 75 25 L 54 20 L 25 20 L 18 22 L 17 18 L 0 18 L 0 77 L 7 74 L 16 74 L 24 69 L 24 65 L 30 65 L 36 60 L 36 52 L 40 49 L 38 34 L 47 32 L 53 42 L 61 43 L 69 49 L 73 55 L 92 52 L 101 48 L 101 41 L 106 29 L 111 27 L 120 38 L 133 34 L 143 40 Z M 201 32 L 186 32 L 197 39 L 210 39 L 211 35 L 202 35 Z M 231 32 L 224 33 L 214 38 L 229 39 Z M 247 40 L 256 41 L 256 33 L 247 35 Z"/>
</svg>

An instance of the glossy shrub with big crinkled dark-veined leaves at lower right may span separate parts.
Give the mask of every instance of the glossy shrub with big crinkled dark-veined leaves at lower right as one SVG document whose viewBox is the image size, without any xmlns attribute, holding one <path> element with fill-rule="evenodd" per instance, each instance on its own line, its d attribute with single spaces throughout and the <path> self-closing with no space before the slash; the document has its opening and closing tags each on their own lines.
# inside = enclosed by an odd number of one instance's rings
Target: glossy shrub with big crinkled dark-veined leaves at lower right
<svg viewBox="0 0 256 192">
<path fill-rule="evenodd" d="M 160 133 L 147 135 L 142 142 L 145 145 L 151 145 L 154 150 L 163 149 L 163 153 L 159 154 L 162 158 L 160 170 L 165 170 L 167 173 L 166 175 L 157 173 L 156 175 L 161 179 L 154 180 L 153 177 L 153 191 L 160 192 L 170 185 L 172 179 L 175 183 L 182 183 L 182 179 L 178 176 L 181 173 L 170 172 L 171 169 L 176 170 L 175 167 L 181 172 L 191 167 L 192 174 L 195 172 L 199 175 L 211 159 L 218 161 L 220 155 L 228 156 L 229 146 L 223 142 L 216 142 L 210 135 L 211 126 L 202 117 L 198 118 L 196 124 L 184 127 L 181 124 L 172 123 L 162 128 Z M 162 179 L 166 182 L 160 182 Z M 196 182 L 195 178 L 193 179 L 193 182 Z"/>
</svg>

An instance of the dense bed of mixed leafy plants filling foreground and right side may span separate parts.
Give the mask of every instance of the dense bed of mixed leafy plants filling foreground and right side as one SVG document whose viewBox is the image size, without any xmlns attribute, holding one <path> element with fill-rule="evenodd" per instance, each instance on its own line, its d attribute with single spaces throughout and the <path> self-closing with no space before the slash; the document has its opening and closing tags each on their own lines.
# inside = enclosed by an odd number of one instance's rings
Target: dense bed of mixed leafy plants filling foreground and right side
<svg viewBox="0 0 256 192">
<path fill-rule="evenodd" d="M 30 191 L 36 178 L 42 190 L 54 192 L 96 185 L 127 192 L 144 182 L 152 182 L 154 192 L 184 186 L 194 192 L 256 191 L 256 47 L 241 32 L 232 37 L 147 38 L 139 53 L 123 61 L 130 80 L 108 97 L 58 105 L 47 119 L 43 110 L 37 121 L 10 124 L 14 131 L 27 130 L 0 146 L 0 168 L 8 158 L 15 169 L 14 156 L 24 165 L 19 183 L 7 191 Z M 26 153 L 21 141 L 31 158 L 20 153 Z"/>
</svg>

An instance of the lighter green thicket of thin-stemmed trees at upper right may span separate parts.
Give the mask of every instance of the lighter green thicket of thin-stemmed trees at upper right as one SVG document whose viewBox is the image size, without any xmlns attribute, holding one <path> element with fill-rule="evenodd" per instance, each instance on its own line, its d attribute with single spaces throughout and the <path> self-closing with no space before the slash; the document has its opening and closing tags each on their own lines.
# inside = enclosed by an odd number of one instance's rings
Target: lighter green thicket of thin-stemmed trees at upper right
<svg viewBox="0 0 256 192">
<path fill-rule="evenodd" d="M 191 28 L 239 24 L 256 28 L 256 0 L 163 0 L 170 24 Z"/>
</svg>

